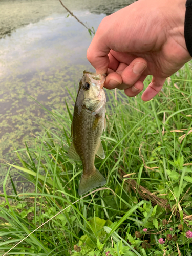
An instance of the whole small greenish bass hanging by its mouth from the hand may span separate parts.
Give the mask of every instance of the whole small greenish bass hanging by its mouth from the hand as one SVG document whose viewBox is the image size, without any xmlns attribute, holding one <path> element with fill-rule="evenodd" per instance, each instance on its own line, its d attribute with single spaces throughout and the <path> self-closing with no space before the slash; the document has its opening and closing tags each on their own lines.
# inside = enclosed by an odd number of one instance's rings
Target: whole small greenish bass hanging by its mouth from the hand
<svg viewBox="0 0 192 256">
<path fill-rule="evenodd" d="M 105 158 L 100 139 L 106 127 L 106 96 L 103 90 L 105 79 L 106 75 L 83 71 L 79 82 L 71 124 L 72 143 L 68 151 L 69 158 L 82 162 L 79 195 L 106 183 L 94 164 L 95 155 Z"/>
</svg>

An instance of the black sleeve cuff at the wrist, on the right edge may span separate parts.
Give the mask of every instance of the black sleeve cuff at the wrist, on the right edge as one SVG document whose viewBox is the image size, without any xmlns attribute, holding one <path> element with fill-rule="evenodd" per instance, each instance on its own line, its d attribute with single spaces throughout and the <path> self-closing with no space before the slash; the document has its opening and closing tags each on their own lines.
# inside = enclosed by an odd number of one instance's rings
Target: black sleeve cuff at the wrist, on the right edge
<svg viewBox="0 0 192 256">
<path fill-rule="evenodd" d="M 192 0 L 186 2 L 184 37 L 187 50 L 192 56 Z"/>
</svg>

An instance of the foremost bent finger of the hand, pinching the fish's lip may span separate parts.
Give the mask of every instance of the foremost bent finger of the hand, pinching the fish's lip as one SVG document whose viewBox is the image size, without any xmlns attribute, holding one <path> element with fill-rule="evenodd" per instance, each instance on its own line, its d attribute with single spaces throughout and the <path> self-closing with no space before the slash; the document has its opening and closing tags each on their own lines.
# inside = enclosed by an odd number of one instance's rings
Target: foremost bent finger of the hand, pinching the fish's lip
<svg viewBox="0 0 192 256">
<path fill-rule="evenodd" d="M 95 36 L 87 50 L 87 59 L 99 74 L 106 74 L 109 66 L 108 53 L 110 47 L 108 44 L 108 36 L 106 35 L 106 26 L 104 26 L 106 18 L 100 23 Z"/>
</svg>

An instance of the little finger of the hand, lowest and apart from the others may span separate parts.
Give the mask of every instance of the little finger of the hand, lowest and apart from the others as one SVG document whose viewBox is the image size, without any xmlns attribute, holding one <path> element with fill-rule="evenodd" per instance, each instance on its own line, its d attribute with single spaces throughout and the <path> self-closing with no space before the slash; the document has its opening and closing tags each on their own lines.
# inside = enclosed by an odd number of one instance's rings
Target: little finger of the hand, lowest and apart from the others
<svg viewBox="0 0 192 256">
<path fill-rule="evenodd" d="M 161 91 L 166 78 L 153 76 L 152 82 L 148 85 L 141 98 L 143 101 L 149 101 Z"/>
</svg>

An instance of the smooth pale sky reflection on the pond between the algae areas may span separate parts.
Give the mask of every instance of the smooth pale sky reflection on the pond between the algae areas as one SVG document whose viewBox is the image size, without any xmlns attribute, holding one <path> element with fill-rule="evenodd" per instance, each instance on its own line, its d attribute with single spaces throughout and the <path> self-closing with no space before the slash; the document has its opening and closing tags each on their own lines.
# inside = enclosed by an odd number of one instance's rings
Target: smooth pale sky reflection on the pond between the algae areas
<svg viewBox="0 0 192 256">
<path fill-rule="evenodd" d="M 83 22 L 97 29 L 104 14 L 75 12 Z M 69 65 L 88 65 L 86 50 L 91 42 L 88 31 L 69 16 L 52 14 L 35 24 L 12 32 L 0 40 L 0 67 L 2 75 L 32 72 L 49 67 L 62 68 L 60 61 Z"/>
</svg>

